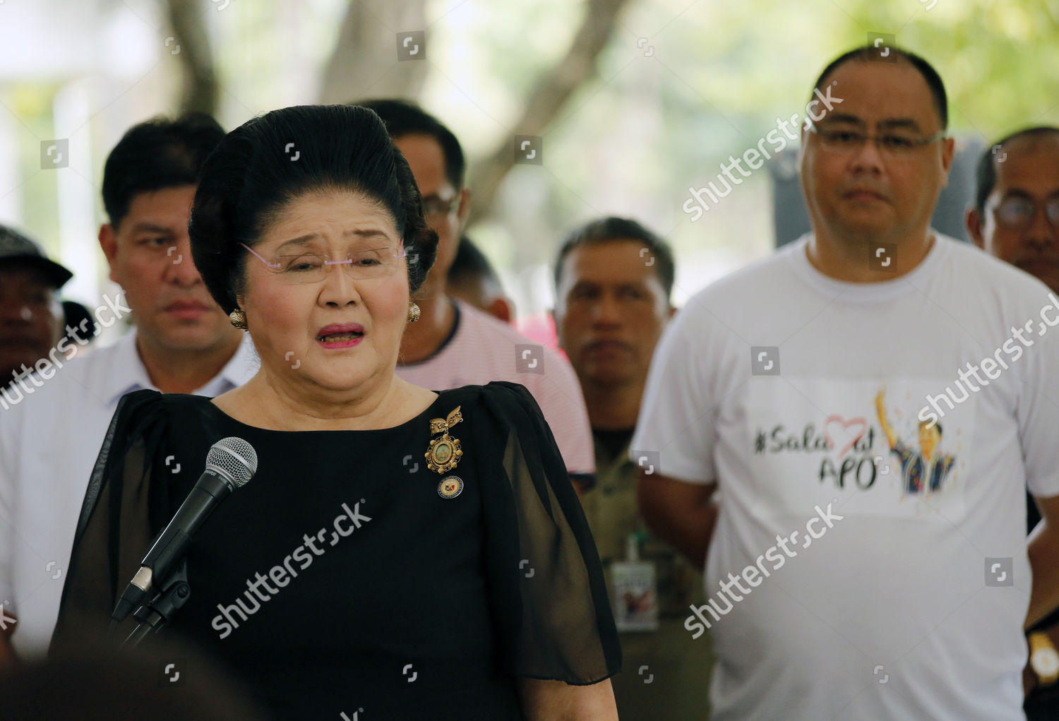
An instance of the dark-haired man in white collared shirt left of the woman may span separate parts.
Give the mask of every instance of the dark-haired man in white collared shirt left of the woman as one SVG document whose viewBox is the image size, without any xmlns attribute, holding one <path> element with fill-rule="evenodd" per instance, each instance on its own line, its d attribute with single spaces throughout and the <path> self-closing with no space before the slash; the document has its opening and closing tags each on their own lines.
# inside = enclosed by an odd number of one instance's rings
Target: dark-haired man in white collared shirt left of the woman
<svg viewBox="0 0 1059 721">
<path fill-rule="evenodd" d="M 133 313 L 136 329 L 72 360 L 60 343 L 53 366 L 4 397 L 0 665 L 11 660 L 8 646 L 23 657 L 48 649 L 85 489 L 121 397 L 139 389 L 216 396 L 256 371 L 249 340 L 207 292 L 187 238 L 202 162 L 223 134 L 199 113 L 125 133 L 104 167 L 108 222 L 100 229 L 122 292 L 105 296 L 95 318 L 110 327 Z M 191 472 L 182 466 L 196 462 L 204 458 L 174 458 L 172 472 Z"/>
</svg>

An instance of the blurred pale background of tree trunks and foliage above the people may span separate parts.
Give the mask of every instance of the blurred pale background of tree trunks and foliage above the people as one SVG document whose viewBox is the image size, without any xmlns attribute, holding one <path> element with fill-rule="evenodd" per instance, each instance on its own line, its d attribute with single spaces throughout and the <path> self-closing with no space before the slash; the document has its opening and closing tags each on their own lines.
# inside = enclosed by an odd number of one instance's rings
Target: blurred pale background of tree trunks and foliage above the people
<svg viewBox="0 0 1059 721">
<path fill-rule="evenodd" d="M 424 33 L 423 59 L 398 59 L 409 31 Z M 681 303 L 774 248 L 773 178 L 791 158 L 694 223 L 689 186 L 803 112 L 823 66 L 870 33 L 935 65 L 968 152 L 1059 123 L 1059 0 L 5 0 L 0 222 L 74 267 L 71 296 L 94 304 L 102 164 L 129 125 L 212 108 L 231 128 L 286 105 L 398 95 L 464 143 L 468 235 L 520 311 L 551 304 L 558 242 L 604 214 L 669 239 Z M 541 139 L 542 164 L 515 164 L 516 134 Z M 57 168 L 41 159 L 56 139 L 69 141 Z"/>
</svg>

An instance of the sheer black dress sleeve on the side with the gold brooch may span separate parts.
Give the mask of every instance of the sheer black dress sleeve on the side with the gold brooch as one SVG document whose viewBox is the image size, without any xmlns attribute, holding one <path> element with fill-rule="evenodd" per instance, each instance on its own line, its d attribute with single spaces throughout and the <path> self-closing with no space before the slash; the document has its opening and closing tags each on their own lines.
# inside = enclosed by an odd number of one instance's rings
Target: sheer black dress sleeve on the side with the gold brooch
<svg viewBox="0 0 1059 721">
<path fill-rule="evenodd" d="M 522 385 L 489 383 L 483 401 L 487 443 L 502 456 L 480 477 L 505 670 L 603 681 L 621 668 L 621 647 L 599 556 L 555 438 Z"/>
</svg>

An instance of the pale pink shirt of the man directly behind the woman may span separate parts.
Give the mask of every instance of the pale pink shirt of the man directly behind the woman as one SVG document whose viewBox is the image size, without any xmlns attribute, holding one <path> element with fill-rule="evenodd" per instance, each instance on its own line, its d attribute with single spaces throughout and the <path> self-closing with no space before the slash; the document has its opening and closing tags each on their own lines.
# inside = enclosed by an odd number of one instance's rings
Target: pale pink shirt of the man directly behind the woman
<svg viewBox="0 0 1059 721">
<path fill-rule="evenodd" d="M 548 348 L 463 301 L 452 336 L 426 360 L 397 365 L 397 375 L 430 391 L 520 383 L 540 405 L 571 475 L 595 473 L 592 428 L 585 396 L 570 363 Z"/>
</svg>

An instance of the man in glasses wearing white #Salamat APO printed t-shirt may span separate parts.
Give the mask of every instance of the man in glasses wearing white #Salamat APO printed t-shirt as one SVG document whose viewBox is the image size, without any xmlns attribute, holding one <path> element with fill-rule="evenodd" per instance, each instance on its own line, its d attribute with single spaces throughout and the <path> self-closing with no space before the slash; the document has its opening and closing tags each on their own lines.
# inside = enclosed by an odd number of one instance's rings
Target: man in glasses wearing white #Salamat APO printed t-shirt
<svg viewBox="0 0 1059 721">
<path fill-rule="evenodd" d="M 813 231 L 667 328 L 641 507 L 705 561 L 714 719 L 1022 719 L 1023 628 L 1059 605 L 1059 299 L 931 230 L 953 141 L 926 61 L 866 47 L 815 88 Z M 898 447 L 944 480 L 910 488 Z"/>
</svg>

